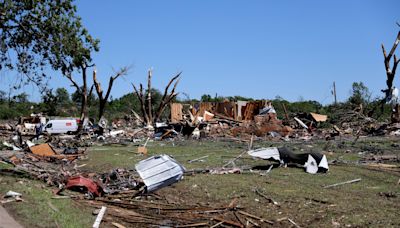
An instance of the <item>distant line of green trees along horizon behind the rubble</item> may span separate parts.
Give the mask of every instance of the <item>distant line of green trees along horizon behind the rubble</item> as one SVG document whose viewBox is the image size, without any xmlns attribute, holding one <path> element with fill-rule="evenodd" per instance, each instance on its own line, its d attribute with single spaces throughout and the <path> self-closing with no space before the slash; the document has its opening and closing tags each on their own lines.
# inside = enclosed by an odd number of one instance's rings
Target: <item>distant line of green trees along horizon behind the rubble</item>
<svg viewBox="0 0 400 228">
<path fill-rule="evenodd" d="M 185 95 L 185 94 L 184 94 Z M 157 89 L 152 89 L 152 101 L 154 107 L 157 107 L 161 101 L 162 94 Z M 205 94 L 200 100 L 190 99 L 186 95 L 185 99 L 178 98 L 174 102 L 196 103 L 196 102 L 223 102 L 223 101 L 251 101 L 252 98 L 242 96 L 211 96 Z M 355 82 L 352 86 L 352 94 L 345 101 L 337 104 L 322 105 L 317 101 L 296 101 L 289 102 L 277 96 L 270 99 L 274 108 L 278 113 L 278 117 L 285 117 L 286 108 L 289 116 L 297 113 L 316 112 L 326 114 L 330 117 L 330 122 L 338 120 L 343 113 L 349 110 L 361 111 L 365 116 L 369 116 L 378 120 L 387 120 L 390 117 L 391 108 L 389 105 L 383 106 L 381 99 L 371 99 L 371 93 L 362 82 Z M 44 113 L 49 116 L 79 116 L 79 107 L 81 104 L 81 96 L 78 93 L 69 94 L 64 88 L 49 90 L 41 97 L 41 102 L 35 103 L 29 101 L 26 93 L 15 96 L 9 96 L 6 92 L 0 91 L 0 119 L 16 119 L 20 116 L 27 116 L 31 113 Z M 89 116 L 96 118 L 98 116 L 99 101 L 97 96 L 91 94 L 89 97 Z M 128 93 L 118 99 L 111 98 L 106 111 L 106 118 L 124 118 L 132 115 L 132 110 L 140 113 L 140 103 L 138 97 L 133 93 Z M 163 117 L 169 117 L 169 109 L 167 109 Z M 96 121 L 96 120 L 95 120 Z"/>
</svg>

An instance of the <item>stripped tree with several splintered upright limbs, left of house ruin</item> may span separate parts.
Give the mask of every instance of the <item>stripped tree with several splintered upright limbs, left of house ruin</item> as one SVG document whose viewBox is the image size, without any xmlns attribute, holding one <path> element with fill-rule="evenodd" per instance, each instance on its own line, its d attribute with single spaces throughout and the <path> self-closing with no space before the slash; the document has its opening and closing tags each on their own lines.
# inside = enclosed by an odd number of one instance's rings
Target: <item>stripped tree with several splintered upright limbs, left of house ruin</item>
<svg viewBox="0 0 400 228">
<path fill-rule="evenodd" d="M 144 91 L 142 84 L 140 84 L 139 89 L 137 89 L 136 86 L 132 83 L 136 96 L 139 98 L 140 109 L 143 115 L 143 121 L 146 123 L 147 126 L 152 126 L 156 121 L 160 120 L 160 117 L 163 114 L 167 105 L 178 95 L 178 93 L 176 93 L 175 90 L 179 83 L 181 73 L 182 72 L 178 73 L 175 77 L 171 78 L 171 80 L 165 87 L 164 94 L 161 98 L 161 102 L 158 105 L 158 108 L 156 108 L 155 110 L 153 110 L 152 99 L 151 99 L 152 70 L 148 71 L 146 91 Z M 172 84 L 173 87 L 170 90 Z"/>
</svg>

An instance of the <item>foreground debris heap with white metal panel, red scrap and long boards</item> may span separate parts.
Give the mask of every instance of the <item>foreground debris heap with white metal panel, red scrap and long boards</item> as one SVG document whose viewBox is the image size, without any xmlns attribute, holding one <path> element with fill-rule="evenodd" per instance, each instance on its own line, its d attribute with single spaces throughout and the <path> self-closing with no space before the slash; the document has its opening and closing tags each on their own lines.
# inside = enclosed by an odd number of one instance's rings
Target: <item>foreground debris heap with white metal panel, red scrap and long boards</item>
<svg viewBox="0 0 400 228">
<path fill-rule="evenodd" d="M 68 197 L 95 209 L 101 207 L 95 224 L 101 222 L 105 210 L 104 220 L 123 224 L 169 227 L 217 224 L 244 227 L 249 221 L 261 226 L 274 224 L 274 221 L 246 212 L 235 200 L 229 205 L 213 207 L 184 205 L 157 194 L 157 190 L 181 180 L 186 172 L 168 155 L 142 160 L 135 170 L 116 168 L 105 173 L 82 171 L 83 165 L 77 165 L 76 161 L 84 156 L 85 150 L 51 144 L 31 145 L 19 151 L 3 150 L 0 161 L 11 164 L 12 168 L 2 168 L 0 173 L 41 180 L 54 188 L 54 198 Z M 235 169 L 212 170 L 210 173 L 225 174 L 232 170 Z M 186 174 L 193 174 L 193 171 Z M 14 201 L 21 200 L 21 194 L 13 195 L 18 196 Z"/>
</svg>

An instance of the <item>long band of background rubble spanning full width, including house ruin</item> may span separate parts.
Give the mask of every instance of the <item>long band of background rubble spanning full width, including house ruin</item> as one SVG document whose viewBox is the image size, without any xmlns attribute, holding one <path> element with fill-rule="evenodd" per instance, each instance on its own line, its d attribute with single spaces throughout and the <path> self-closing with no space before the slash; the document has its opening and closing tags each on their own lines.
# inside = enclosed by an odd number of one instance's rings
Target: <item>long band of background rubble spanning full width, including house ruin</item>
<svg viewBox="0 0 400 228">
<path fill-rule="evenodd" d="M 285 109 L 286 110 L 286 109 Z M 327 115 L 318 113 L 292 113 L 285 111 L 284 120 L 277 117 L 271 102 L 201 102 L 194 104 L 171 103 L 170 118 L 165 122 L 146 125 L 143 118 L 132 111 L 121 119 L 108 124 L 101 119 L 98 124 L 85 125 L 78 135 L 53 135 L 44 132 L 45 142 L 58 146 L 90 146 L 101 144 L 129 144 L 147 138 L 155 140 L 231 139 L 250 140 L 252 136 L 267 140 L 335 139 L 337 136 L 400 135 L 400 126 L 376 121 L 357 111 L 347 111 L 331 122 Z M 74 120 L 74 118 L 70 118 Z M 22 141 L 32 140 L 34 126 L 47 120 L 40 114 L 21 118 Z M 56 120 L 58 121 L 58 120 Z M 14 123 L 0 124 L 0 140 L 21 147 L 18 144 L 17 127 Z M 46 129 L 46 127 L 45 127 Z M 19 141 L 21 144 L 21 141 Z"/>
</svg>

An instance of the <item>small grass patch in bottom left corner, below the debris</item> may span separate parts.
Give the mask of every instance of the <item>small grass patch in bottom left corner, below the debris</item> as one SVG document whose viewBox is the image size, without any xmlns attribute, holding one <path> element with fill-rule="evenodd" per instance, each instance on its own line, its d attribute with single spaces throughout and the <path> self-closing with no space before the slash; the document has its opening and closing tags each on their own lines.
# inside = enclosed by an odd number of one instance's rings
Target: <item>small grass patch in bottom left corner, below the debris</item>
<svg viewBox="0 0 400 228">
<path fill-rule="evenodd" d="M 43 182 L 8 176 L 0 180 L 1 195 L 9 190 L 22 194 L 23 202 L 3 206 L 24 227 L 90 227 L 95 220 L 91 210 L 71 199 L 52 199 L 51 188 Z"/>
</svg>

